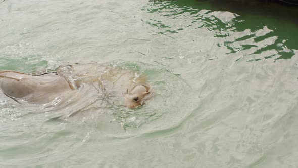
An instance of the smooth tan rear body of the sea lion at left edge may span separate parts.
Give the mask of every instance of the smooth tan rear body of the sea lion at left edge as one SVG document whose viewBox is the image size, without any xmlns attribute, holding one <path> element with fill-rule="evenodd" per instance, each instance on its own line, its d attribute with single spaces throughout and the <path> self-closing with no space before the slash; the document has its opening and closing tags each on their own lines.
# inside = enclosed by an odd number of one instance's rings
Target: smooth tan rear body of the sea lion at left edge
<svg viewBox="0 0 298 168">
<path fill-rule="evenodd" d="M 67 80 L 55 73 L 30 75 L 16 71 L 0 72 L 0 88 L 11 98 L 23 99 L 33 104 L 50 102 L 72 90 Z"/>
</svg>

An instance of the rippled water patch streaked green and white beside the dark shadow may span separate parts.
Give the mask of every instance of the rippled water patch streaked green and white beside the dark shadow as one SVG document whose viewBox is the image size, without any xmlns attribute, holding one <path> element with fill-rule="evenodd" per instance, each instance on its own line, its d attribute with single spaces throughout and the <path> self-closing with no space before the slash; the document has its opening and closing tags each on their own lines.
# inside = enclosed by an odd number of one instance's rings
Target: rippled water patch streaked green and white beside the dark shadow
<svg viewBox="0 0 298 168">
<path fill-rule="evenodd" d="M 264 59 L 290 59 L 295 55 L 295 50 L 287 47 L 286 44 L 289 43 L 286 38 L 275 35 L 274 26 L 247 23 L 242 16 L 235 13 L 200 9 L 198 5 L 181 7 L 175 1 L 154 1 L 145 5 L 143 11 L 148 13 L 148 19 L 144 22 L 156 29 L 155 33 L 175 40 L 181 41 L 179 33 L 196 36 L 193 34 L 194 29 L 201 33 L 205 30 L 215 33 L 216 45 L 229 51 L 221 57 L 241 55 L 240 59 L 252 62 Z M 253 26 L 247 27 L 247 24 Z M 239 58 L 235 58 L 235 61 L 238 60 Z"/>
</svg>

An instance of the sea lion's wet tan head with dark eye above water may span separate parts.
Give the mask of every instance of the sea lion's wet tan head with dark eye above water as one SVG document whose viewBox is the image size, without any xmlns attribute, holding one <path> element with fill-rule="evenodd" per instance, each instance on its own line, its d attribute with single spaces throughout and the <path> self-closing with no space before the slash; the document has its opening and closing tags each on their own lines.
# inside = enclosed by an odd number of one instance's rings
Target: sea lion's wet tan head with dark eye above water
<svg viewBox="0 0 298 168">
<path fill-rule="evenodd" d="M 145 84 L 136 85 L 130 91 L 127 90 L 124 94 L 126 99 L 126 106 L 135 108 L 141 106 L 144 102 L 151 97 L 150 87 Z"/>
</svg>

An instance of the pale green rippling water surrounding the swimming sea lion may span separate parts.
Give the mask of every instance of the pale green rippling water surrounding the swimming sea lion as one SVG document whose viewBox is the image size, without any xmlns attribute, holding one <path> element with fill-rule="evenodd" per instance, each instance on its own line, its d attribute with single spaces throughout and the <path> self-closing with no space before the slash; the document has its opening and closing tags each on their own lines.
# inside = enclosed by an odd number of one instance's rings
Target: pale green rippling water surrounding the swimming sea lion
<svg viewBox="0 0 298 168">
<path fill-rule="evenodd" d="M 0 167 L 298 166 L 292 19 L 209 1 L 6 0 L 0 28 L 0 70 L 113 64 L 156 93 L 136 110 L 90 92 L 52 112 L 0 94 Z"/>
</svg>

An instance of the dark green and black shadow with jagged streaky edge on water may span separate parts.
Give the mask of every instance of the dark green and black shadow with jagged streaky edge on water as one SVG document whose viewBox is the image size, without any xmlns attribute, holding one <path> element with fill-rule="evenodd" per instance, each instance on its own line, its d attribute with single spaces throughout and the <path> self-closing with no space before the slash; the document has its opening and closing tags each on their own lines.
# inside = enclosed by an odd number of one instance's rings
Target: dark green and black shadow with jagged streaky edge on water
<svg viewBox="0 0 298 168">
<path fill-rule="evenodd" d="M 258 49 L 251 54 L 262 54 L 264 51 L 277 50 L 277 57 L 267 56 L 262 59 L 274 60 L 278 59 L 290 59 L 294 52 L 292 49 L 297 50 L 296 39 L 298 39 L 298 5 L 292 5 L 285 3 L 284 1 L 298 4 L 298 0 L 170 0 L 170 1 L 157 1 L 154 0 L 154 3 L 161 3 L 159 9 L 163 9 L 163 2 L 167 2 L 166 6 L 175 6 L 183 12 L 194 12 L 191 9 L 197 10 L 210 10 L 210 11 L 228 11 L 234 14 L 237 14 L 237 17 L 232 21 L 230 25 L 222 23 L 221 21 L 216 22 L 216 25 L 213 26 L 211 21 L 208 18 L 204 18 L 204 22 L 210 24 L 204 24 L 205 27 L 211 31 L 218 31 L 216 37 L 225 38 L 229 34 L 225 34 L 225 30 L 230 28 L 235 28 L 230 31 L 244 32 L 249 29 L 250 32 L 256 32 L 264 27 L 272 30 L 271 32 L 264 34 L 262 36 L 257 36 L 254 38 L 254 42 L 262 41 L 266 38 L 277 37 L 278 39 L 274 44 L 267 45 Z M 193 15 L 195 16 L 195 14 Z M 239 16 L 238 16 L 239 15 Z M 203 20 L 203 19 L 201 19 Z M 202 21 L 201 21 L 202 22 Z M 235 39 L 235 41 L 241 41 L 248 38 L 251 38 L 253 34 L 246 34 L 241 38 Z M 232 48 L 235 41 L 226 41 L 223 45 L 231 50 L 230 53 L 235 53 L 237 50 Z M 283 44 L 283 46 L 279 46 Z M 283 47 L 289 49 L 284 51 Z M 256 47 L 252 44 L 243 44 L 241 45 L 241 50 L 250 49 Z M 228 53 L 229 54 L 229 53 Z M 251 55 L 250 54 L 250 55 Z M 252 59 L 251 61 L 258 61 L 261 59 Z"/>
</svg>

